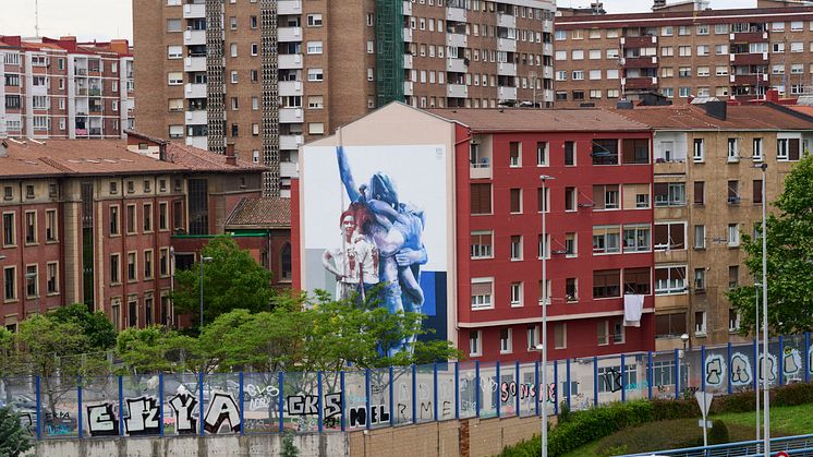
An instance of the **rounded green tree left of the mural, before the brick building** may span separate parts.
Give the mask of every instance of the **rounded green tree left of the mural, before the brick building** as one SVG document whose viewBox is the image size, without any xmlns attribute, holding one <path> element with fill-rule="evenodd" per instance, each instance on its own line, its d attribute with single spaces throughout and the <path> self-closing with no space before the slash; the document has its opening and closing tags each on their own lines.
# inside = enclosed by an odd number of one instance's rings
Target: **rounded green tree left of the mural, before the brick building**
<svg viewBox="0 0 813 457">
<path fill-rule="evenodd" d="M 205 323 L 238 308 L 254 313 L 270 311 L 275 297 L 271 273 L 263 268 L 248 251 L 240 249 L 231 237 L 214 238 L 203 248 L 202 255 L 211 257 L 211 262 L 204 263 Z M 175 281 L 175 309 L 192 315 L 193 326 L 197 327 L 201 317 L 201 264 L 178 272 Z"/>
</svg>

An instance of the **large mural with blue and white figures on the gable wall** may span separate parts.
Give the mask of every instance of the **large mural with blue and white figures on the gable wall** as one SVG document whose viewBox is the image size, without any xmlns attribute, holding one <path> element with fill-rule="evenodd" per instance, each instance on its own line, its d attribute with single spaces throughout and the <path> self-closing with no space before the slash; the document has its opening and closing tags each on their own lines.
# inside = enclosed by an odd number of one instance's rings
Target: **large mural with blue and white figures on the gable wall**
<svg viewBox="0 0 813 457">
<path fill-rule="evenodd" d="M 306 289 L 426 314 L 446 338 L 446 148 L 312 146 L 303 155 Z"/>
</svg>

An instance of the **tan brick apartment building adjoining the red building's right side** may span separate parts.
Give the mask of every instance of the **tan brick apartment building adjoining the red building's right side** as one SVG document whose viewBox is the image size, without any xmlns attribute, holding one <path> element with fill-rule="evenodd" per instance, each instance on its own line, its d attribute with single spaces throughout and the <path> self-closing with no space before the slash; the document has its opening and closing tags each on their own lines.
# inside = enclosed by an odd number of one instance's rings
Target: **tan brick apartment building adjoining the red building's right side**
<svg viewBox="0 0 813 457">
<path fill-rule="evenodd" d="M 737 340 L 740 316 L 725 293 L 754 281 L 741 236 L 755 236 L 763 187 L 770 212 L 785 177 L 810 151 L 813 118 L 773 104 L 721 101 L 615 112 L 654 130 L 657 349 L 682 347 L 684 333 L 692 346 Z"/>
</svg>

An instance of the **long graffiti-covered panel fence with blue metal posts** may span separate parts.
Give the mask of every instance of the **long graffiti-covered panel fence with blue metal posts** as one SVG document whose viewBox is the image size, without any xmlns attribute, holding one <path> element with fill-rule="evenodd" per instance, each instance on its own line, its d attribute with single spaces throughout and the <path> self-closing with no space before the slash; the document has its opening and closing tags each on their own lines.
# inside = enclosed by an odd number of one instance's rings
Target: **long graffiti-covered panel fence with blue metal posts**
<svg viewBox="0 0 813 457">
<path fill-rule="evenodd" d="M 810 335 L 770 345 L 772 386 L 809 382 Z M 343 372 L 0 378 L 37 438 L 339 432 L 466 418 L 558 413 L 611 401 L 679 398 L 687 389 L 752 389 L 755 341 L 538 362 L 464 361 Z M 762 354 L 760 353 L 759 357 Z M 547 370 L 547 386 L 539 385 Z"/>
</svg>

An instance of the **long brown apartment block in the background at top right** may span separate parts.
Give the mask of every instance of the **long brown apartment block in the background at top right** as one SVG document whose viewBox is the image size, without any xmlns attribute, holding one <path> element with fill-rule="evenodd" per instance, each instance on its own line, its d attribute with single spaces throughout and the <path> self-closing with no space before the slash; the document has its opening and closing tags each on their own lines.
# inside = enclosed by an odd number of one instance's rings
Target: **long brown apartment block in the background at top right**
<svg viewBox="0 0 813 457">
<path fill-rule="evenodd" d="M 700 3 L 656 2 L 652 13 L 562 12 L 554 39 L 557 107 L 612 107 L 652 93 L 680 104 L 810 92 L 813 7 L 692 8 Z"/>
</svg>

